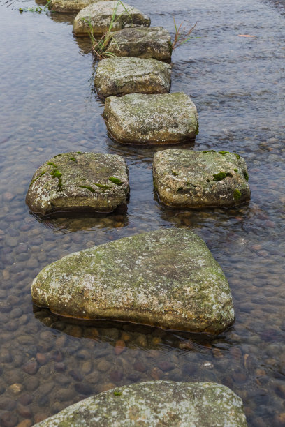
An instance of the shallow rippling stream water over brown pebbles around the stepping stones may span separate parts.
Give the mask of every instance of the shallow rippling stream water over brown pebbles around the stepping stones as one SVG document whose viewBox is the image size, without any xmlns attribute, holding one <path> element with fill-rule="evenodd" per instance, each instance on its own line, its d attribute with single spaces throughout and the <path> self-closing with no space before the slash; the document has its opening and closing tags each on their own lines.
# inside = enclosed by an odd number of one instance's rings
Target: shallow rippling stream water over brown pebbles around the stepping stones
<svg viewBox="0 0 285 427">
<path fill-rule="evenodd" d="M 30 426 L 92 394 L 145 380 L 214 381 L 244 401 L 249 426 L 285 426 L 284 68 L 282 1 L 131 0 L 173 33 L 198 21 L 173 54 L 171 91 L 196 103 L 195 145 L 247 161 L 251 202 L 235 209 L 173 211 L 152 185 L 164 147 L 112 142 L 94 93 L 88 40 L 74 15 L 22 13 L 0 3 L 0 425 Z M 239 35 L 254 37 L 240 37 Z M 38 220 L 24 197 L 34 171 L 66 151 L 124 156 L 126 213 Z M 31 282 L 50 262 L 159 227 L 187 227 L 221 264 L 236 320 L 216 338 L 152 327 L 68 322 L 33 307 Z M 121 352 L 116 347 L 123 340 Z M 122 343 L 121 343 L 122 345 Z"/>
</svg>

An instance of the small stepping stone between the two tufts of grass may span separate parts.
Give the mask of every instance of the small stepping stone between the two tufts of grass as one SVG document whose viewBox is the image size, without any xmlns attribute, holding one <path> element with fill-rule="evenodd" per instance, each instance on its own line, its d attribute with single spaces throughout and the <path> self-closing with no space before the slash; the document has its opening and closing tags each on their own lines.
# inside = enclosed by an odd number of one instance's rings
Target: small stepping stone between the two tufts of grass
<svg viewBox="0 0 285 427">
<path fill-rule="evenodd" d="M 126 28 L 114 34 L 108 52 L 117 57 L 155 58 L 170 61 L 170 34 L 163 27 Z"/>
</svg>

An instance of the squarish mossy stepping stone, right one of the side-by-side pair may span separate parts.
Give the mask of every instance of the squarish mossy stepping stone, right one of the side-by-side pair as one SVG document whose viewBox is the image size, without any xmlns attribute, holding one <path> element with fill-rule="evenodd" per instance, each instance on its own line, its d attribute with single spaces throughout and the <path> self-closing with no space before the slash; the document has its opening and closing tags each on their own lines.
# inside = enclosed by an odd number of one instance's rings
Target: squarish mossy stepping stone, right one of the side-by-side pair
<svg viewBox="0 0 285 427">
<path fill-rule="evenodd" d="M 250 199 L 247 165 L 235 153 L 159 151 L 153 173 L 159 198 L 170 207 L 226 207 Z"/>
</svg>

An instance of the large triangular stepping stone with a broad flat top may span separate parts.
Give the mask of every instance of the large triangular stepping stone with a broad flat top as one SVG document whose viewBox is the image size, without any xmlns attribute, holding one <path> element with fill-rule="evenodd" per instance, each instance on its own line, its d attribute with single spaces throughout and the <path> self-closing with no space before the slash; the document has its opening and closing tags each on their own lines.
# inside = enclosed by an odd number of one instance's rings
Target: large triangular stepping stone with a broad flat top
<svg viewBox="0 0 285 427">
<path fill-rule="evenodd" d="M 34 304 L 82 319 L 219 334 L 231 291 L 204 241 L 185 229 L 136 234 L 61 258 L 31 287 Z"/>
</svg>

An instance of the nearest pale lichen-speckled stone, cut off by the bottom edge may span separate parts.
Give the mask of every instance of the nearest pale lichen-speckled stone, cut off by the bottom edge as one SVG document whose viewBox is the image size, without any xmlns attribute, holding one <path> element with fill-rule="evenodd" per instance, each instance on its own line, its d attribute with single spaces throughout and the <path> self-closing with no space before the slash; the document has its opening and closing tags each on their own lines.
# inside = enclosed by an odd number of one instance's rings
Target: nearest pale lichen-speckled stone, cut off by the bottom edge
<svg viewBox="0 0 285 427">
<path fill-rule="evenodd" d="M 149 381 L 68 406 L 35 427 L 247 427 L 242 399 L 215 382 Z"/>
</svg>

